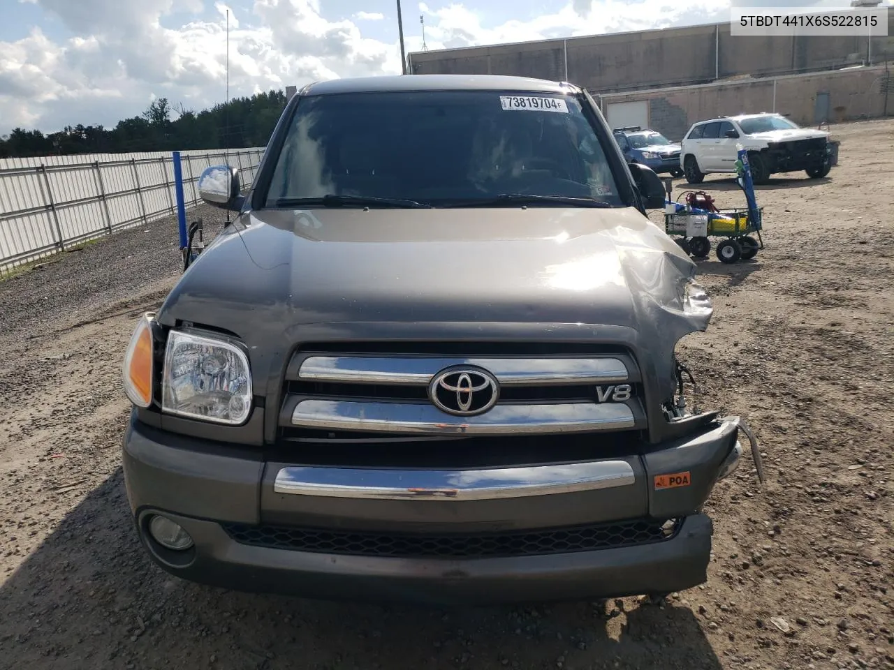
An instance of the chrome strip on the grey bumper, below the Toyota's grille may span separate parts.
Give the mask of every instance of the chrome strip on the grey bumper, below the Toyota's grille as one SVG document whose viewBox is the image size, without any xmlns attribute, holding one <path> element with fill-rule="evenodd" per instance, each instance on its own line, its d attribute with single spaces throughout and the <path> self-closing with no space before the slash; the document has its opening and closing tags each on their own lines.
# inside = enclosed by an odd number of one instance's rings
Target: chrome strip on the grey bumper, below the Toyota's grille
<svg viewBox="0 0 894 670">
<path fill-rule="evenodd" d="M 284 467 L 274 491 L 327 498 L 489 500 L 611 489 L 636 482 L 627 461 L 493 470 Z"/>
</svg>

